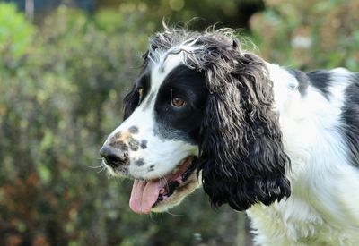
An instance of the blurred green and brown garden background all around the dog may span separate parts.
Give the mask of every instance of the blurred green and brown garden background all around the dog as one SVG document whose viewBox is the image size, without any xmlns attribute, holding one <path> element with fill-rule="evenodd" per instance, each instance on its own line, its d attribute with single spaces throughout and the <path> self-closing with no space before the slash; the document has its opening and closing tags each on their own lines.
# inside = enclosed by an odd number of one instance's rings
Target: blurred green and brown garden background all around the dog
<svg viewBox="0 0 359 246">
<path fill-rule="evenodd" d="M 359 71 L 357 0 L 0 1 L 0 245 L 250 245 L 203 191 L 138 216 L 131 182 L 99 168 L 163 17 L 239 28 L 272 63 Z"/>
</svg>

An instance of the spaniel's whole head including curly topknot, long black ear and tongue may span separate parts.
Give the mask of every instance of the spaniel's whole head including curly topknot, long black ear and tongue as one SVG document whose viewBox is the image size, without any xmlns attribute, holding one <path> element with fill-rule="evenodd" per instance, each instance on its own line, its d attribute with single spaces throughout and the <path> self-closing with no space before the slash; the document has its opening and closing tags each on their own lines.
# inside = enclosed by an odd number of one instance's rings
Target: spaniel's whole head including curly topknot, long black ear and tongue
<svg viewBox="0 0 359 246">
<path fill-rule="evenodd" d="M 130 207 L 166 210 L 200 182 L 215 206 L 237 210 L 289 196 L 272 90 L 265 63 L 229 31 L 153 37 L 101 148 L 110 174 L 134 179 Z"/>
</svg>

